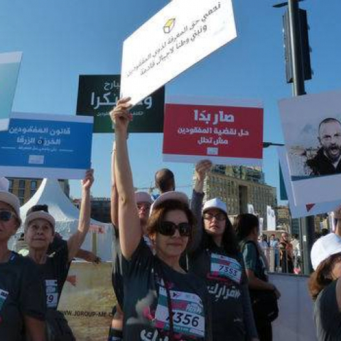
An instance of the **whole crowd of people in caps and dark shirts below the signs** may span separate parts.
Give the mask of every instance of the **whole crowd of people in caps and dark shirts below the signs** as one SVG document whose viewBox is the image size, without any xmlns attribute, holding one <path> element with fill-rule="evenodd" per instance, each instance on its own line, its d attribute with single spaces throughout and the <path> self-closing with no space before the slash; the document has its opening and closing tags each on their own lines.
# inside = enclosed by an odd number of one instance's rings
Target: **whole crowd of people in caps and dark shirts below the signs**
<svg viewBox="0 0 341 341">
<path fill-rule="evenodd" d="M 219 198 L 202 205 L 212 166 L 207 160 L 195 166 L 191 200 L 176 190 L 168 169 L 156 173 L 158 197 L 135 192 L 127 147 L 130 108 L 129 98 L 120 99 L 111 112 L 112 286 L 117 303 L 107 340 L 272 340 L 271 323 L 278 316 L 281 293 L 269 281 L 266 250 L 277 250 L 281 269 L 291 273 L 298 264 L 297 238 L 289 241 L 283 233 L 277 240 L 273 235 L 268 244 L 264 236 L 259 238 L 256 215 L 239 215 L 232 224 Z M 18 198 L 6 184 L 1 186 L 1 341 L 75 340 L 58 303 L 72 259 L 89 259 L 80 248 L 90 227 L 93 181 L 93 171 L 87 171 L 78 229 L 67 241 L 55 232 L 55 219 L 46 205 L 28 210 L 24 256 L 7 246 L 22 222 Z M 320 335 L 332 335 L 332 323 L 340 320 L 341 238 L 330 236 L 319 239 L 312 253 L 316 271 L 310 292 Z M 325 311 L 331 302 L 335 316 L 327 323 Z"/>
</svg>

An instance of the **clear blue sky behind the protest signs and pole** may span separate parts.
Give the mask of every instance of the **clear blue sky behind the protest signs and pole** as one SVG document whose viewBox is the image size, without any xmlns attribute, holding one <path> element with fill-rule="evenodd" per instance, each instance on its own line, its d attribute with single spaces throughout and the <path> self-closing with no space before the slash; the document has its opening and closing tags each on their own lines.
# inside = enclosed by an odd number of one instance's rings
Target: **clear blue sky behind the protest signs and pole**
<svg viewBox="0 0 341 341">
<path fill-rule="evenodd" d="M 185 0 L 183 0 L 185 1 Z M 285 81 L 280 1 L 234 0 L 238 37 L 166 86 L 166 94 L 261 99 L 264 141 L 283 142 L 277 100 L 291 96 Z M 1 0 L 0 52 L 23 51 L 13 110 L 75 114 L 78 75 L 117 74 L 122 43 L 166 0 Z M 341 1 L 307 0 L 313 80 L 308 93 L 341 89 Z M 94 196 L 109 196 L 112 134 L 95 134 Z M 137 188 L 148 188 L 158 168 L 171 168 L 178 185 L 190 185 L 193 165 L 162 163 L 161 134 L 131 134 L 129 150 Z M 278 187 L 275 148 L 264 150 L 266 183 Z M 78 181 L 71 195 L 80 195 Z M 179 188 L 189 192 L 190 188 Z"/>
</svg>

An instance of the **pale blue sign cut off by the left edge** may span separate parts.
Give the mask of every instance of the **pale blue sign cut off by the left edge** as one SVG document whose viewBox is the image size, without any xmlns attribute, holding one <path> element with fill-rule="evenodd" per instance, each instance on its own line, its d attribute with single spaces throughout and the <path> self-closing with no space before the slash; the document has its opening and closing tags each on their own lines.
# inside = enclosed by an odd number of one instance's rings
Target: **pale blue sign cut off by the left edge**
<svg viewBox="0 0 341 341">
<path fill-rule="evenodd" d="M 0 131 L 9 129 L 21 57 L 21 52 L 0 53 Z"/>
</svg>

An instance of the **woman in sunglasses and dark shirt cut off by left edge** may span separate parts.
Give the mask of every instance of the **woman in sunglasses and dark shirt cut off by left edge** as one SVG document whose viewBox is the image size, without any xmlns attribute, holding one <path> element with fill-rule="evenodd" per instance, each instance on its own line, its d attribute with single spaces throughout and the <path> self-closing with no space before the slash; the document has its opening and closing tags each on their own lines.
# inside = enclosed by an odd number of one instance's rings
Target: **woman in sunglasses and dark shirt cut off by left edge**
<svg viewBox="0 0 341 341">
<path fill-rule="evenodd" d="M 0 340 L 45 340 L 45 295 L 36 264 L 10 251 L 21 225 L 20 202 L 0 179 Z"/>
</svg>

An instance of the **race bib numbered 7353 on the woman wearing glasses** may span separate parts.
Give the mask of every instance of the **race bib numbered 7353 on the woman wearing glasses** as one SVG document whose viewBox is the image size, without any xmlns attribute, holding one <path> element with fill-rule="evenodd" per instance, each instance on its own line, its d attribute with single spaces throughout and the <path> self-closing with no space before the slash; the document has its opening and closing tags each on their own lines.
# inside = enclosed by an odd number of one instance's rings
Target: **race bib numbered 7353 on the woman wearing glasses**
<svg viewBox="0 0 341 341">
<path fill-rule="evenodd" d="M 236 283 L 240 283 L 242 266 L 234 258 L 222 256 L 221 254 L 211 254 L 211 276 L 229 278 Z"/>
</svg>

